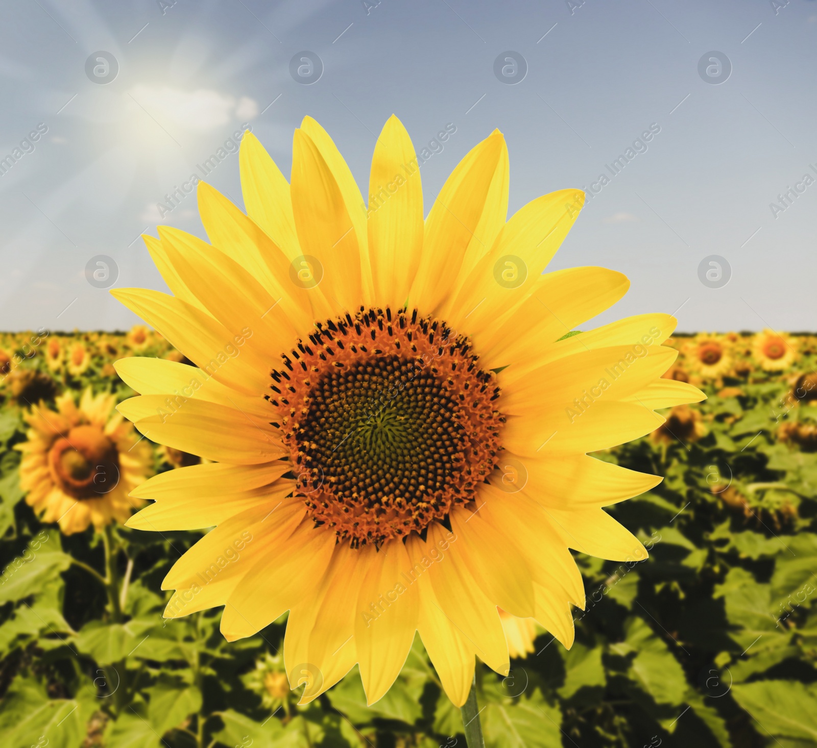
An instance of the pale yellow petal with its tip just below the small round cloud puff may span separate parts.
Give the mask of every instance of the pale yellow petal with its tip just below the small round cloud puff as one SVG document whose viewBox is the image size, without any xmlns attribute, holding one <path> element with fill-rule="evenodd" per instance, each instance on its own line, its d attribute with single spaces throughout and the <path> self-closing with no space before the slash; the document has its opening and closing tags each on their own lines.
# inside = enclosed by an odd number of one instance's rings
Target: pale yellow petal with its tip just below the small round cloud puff
<svg viewBox="0 0 817 748">
<path fill-rule="evenodd" d="M 239 168 L 247 215 L 288 260 L 294 260 L 301 254 L 301 247 L 295 233 L 289 183 L 252 132 L 245 132 L 241 141 Z"/>
</svg>

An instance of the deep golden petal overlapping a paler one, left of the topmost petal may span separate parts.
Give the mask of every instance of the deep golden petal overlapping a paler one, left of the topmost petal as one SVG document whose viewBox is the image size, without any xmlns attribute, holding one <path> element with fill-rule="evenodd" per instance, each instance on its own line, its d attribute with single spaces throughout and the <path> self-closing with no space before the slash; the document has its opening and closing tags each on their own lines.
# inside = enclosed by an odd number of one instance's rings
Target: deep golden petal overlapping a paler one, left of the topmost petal
<svg viewBox="0 0 817 748">
<path fill-rule="evenodd" d="M 301 249 L 319 261 L 328 312 L 357 309 L 363 299 L 361 256 L 355 224 L 323 155 L 302 130 L 292 142 L 292 211 Z"/>
</svg>

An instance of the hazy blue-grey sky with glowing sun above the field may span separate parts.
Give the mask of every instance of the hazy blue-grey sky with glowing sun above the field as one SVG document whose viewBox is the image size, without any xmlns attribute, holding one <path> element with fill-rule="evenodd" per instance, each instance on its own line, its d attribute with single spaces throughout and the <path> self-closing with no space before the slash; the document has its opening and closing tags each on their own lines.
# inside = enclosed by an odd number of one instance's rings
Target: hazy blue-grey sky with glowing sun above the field
<svg viewBox="0 0 817 748">
<path fill-rule="evenodd" d="M 140 236 L 206 238 L 194 192 L 165 196 L 220 148 L 206 180 L 243 207 L 241 127 L 288 175 L 314 117 L 365 194 L 391 114 L 417 150 L 454 130 L 426 213 L 494 128 L 509 216 L 587 191 L 548 269 L 627 274 L 596 322 L 817 327 L 814 0 L 27 0 L 0 28 L 2 330 L 136 323 L 108 288 L 167 291 Z"/>
</svg>

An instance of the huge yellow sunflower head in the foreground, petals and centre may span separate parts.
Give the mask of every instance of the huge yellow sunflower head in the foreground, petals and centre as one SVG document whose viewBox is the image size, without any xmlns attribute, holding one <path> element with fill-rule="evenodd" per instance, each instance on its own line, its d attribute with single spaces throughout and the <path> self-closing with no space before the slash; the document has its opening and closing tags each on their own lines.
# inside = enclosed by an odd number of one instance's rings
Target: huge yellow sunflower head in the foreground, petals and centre
<svg viewBox="0 0 817 748">
<path fill-rule="evenodd" d="M 310 674 L 303 703 L 355 663 L 377 701 L 419 631 L 460 706 L 475 656 L 507 674 L 498 606 L 569 647 L 584 590 L 568 549 L 644 559 L 601 507 L 661 480 L 587 452 L 703 398 L 660 378 L 677 354 L 661 345 L 668 314 L 565 337 L 629 286 L 598 267 L 542 274 L 581 191 L 506 222 L 507 148 L 493 131 L 423 220 L 417 163 L 391 117 L 367 208 L 315 120 L 295 131 L 291 183 L 247 133 L 248 215 L 200 183 L 212 246 L 171 227 L 145 237 L 174 295 L 112 291 L 195 364 L 119 361 L 141 393 L 120 412 L 214 461 L 135 492 L 155 503 L 130 527 L 216 526 L 165 577 L 165 615 L 225 606 L 232 641 L 288 610 L 283 654 L 292 687 Z"/>
</svg>

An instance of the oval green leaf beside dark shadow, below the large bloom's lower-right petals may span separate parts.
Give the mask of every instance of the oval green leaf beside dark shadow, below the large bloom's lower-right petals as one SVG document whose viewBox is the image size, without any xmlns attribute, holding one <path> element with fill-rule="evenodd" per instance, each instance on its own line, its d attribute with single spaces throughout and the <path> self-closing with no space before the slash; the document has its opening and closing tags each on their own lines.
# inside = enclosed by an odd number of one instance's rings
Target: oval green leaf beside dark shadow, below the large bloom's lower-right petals
<svg viewBox="0 0 817 748">
<path fill-rule="evenodd" d="M 667 645 L 641 618 L 630 618 L 624 626 L 627 644 L 636 652 L 629 675 L 655 701 L 676 706 L 684 701 L 684 670 Z"/>
</svg>

